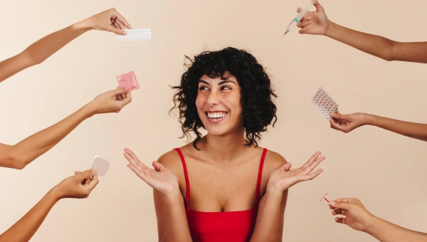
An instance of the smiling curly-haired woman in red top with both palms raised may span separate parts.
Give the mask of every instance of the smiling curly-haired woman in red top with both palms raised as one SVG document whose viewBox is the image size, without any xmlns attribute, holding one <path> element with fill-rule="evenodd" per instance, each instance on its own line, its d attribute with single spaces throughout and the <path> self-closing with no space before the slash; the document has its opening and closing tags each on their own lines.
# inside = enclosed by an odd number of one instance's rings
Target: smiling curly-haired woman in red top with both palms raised
<svg viewBox="0 0 427 242">
<path fill-rule="evenodd" d="M 258 147 L 276 120 L 276 95 L 250 53 L 225 48 L 188 59 L 174 101 L 182 137 L 194 132 L 194 142 L 162 155 L 154 169 L 125 149 L 128 167 L 154 188 L 159 241 L 282 241 L 288 188 L 317 177 L 321 169 L 310 172 L 325 157 L 317 152 L 290 169 Z"/>
</svg>

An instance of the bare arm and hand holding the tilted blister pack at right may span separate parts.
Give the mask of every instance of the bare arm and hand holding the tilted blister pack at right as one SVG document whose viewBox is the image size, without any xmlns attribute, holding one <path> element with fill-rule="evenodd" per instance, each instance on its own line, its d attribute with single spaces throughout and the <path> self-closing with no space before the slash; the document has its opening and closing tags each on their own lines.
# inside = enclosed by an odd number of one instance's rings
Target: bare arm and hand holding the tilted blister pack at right
<svg viewBox="0 0 427 242">
<path fill-rule="evenodd" d="M 393 120 L 388 117 L 380 117 L 367 113 L 353 113 L 350 115 L 337 113 L 333 114 L 332 117 L 333 119 L 330 120 L 331 127 L 342 132 L 347 133 L 363 125 L 373 125 L 398 133 L 399 135 L 427 141 L 427 124 Z"/>
</svg>

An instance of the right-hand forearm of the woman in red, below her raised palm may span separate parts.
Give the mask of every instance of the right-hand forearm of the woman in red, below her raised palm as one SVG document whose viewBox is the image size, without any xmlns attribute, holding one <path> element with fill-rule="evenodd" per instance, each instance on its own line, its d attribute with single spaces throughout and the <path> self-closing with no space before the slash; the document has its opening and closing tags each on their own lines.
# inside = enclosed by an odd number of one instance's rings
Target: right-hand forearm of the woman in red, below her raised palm
<svg viewBox="0 0 427 242">
<path fill-rule="evenodd" d="M 267 190 L 260 201 L 258 216 L 251 242 L 282 241 L 283 214 L 288 190 L 285 192 Z"/>
</svg>

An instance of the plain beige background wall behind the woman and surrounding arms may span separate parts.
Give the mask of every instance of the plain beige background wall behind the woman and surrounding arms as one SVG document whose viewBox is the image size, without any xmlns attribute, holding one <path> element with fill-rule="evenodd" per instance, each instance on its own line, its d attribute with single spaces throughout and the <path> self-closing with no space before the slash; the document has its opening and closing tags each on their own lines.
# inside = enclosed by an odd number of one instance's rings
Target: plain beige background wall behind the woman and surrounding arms
<svg viewBox="0 0 427 242">
<path fill-rule="evenodd" d="M 324 36 L 279 38 L 295 16 L 295 1 L 3 1 L 0 59 L 48 33 L 114 6 L 134 28 L 152 28 L 152 41 L 117 42 L 90 31 L 45 63 L 15 75 L 0 88 L 1 142 L 15 144 L 95 95 L 115 88 L 115 76 L 135 70 L 141 89 L 119 115 L 97 115 L 26 169 L 0 169 L 0 232 L 31 209 L 95 154 L 110 171 L 89 199 L 59 201 L 32 241 L 156 241 L 152 189 L 126 167 L 129 147 L 151 164 L 179 140 L 169 117 L 184 55 L 226 46 L 246 48 L 272 75 L 279 95 L 278 123 L 261 146 L 302 164 L 320 150 L 325 172 L 292 187 L 283 241 L 375 241 L 334 223 L 320 197 L 357 197 L 376 216 L 426 231 L 426 143 L 374 127 L 349 134 L 331 130 L 310 103 L 322 86 L 347 112 L 370 112 L 427 122 L 426 65 L 387 63 Z M 425 41 L 427 1 L 322 1 L 332 21 L 396 41 Z M 254 177 L 255 179 L 255 177 Z"/>
</svg>

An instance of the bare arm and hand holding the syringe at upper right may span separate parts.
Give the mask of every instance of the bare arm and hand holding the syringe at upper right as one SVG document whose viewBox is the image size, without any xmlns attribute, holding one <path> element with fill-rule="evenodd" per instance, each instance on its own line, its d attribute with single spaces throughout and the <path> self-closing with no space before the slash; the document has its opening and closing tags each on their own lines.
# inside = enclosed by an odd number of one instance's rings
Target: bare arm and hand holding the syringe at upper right
<svg viewBox="0 0 427 242">
<path fill-rule="evenodd" d="M 316 11 L 307 12 L 297 24 L 300 33 L 328 36 L 386 61 L 427 63 L 427 42 L 401 43 L 354 31 L 330 21 L 319 1 L 315 1 L 315 7 Z"/>
</svg>

